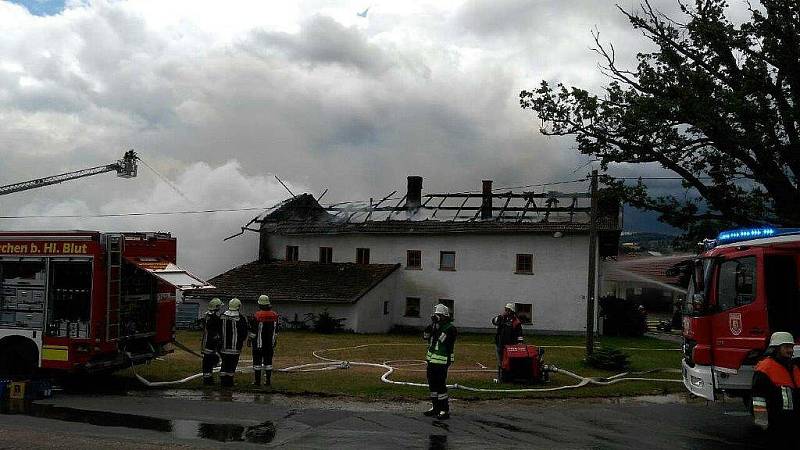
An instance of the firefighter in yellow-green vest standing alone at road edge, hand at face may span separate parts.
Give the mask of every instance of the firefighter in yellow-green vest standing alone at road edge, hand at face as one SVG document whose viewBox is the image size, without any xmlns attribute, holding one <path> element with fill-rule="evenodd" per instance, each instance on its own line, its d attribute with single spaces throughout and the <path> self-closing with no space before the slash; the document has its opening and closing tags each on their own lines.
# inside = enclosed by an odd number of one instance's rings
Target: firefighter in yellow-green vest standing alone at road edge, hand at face
<svg viewBox="0 0 800 450">
<path fill-rule="evenodd" d="M 450 310 L 447 306 L 436 305 L 431 316 L 431 324 L 425 328 L 422 336 L 428 340 L 428 353 L 425 355 L 425 360 L 428 362 L 428 387 L 433 404 L 431 409 L 425 411 L 424 414 L 437 419 L 447 419 L 450 417 L 447 369 L 453 364 L 453 349 L 458 336 L 458 330 L 450 319 Z"/>
</svg>

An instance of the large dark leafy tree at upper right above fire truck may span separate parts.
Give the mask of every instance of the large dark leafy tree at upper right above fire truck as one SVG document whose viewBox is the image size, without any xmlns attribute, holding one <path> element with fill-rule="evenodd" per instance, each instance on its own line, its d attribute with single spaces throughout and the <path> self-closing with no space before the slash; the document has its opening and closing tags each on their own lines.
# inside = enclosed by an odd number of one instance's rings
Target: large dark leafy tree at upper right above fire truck
<svg viewBox="0 0 800 450">
<path fill-rule="evenodd" d="M 636 12 L 618 7 L 656 51 L 639 53 L 635 69 L 622 68 L 613 44 L 601 44 L 595 32 L 600 70 L 609 78 L 601 96 L 546 81 L 520 93 L 543 134 L 575 136 L 580 152 L 604 170 L 658 163 L 682 178 L 697 195 L 651 196 L 641 182 L 604 181 L 689 235 L 800 225 L 800 2 L 748 3 L 742 24 L 725 16 L 726 6 L 680 3 L 683 21 L 649 0 Z"/>
</svg>

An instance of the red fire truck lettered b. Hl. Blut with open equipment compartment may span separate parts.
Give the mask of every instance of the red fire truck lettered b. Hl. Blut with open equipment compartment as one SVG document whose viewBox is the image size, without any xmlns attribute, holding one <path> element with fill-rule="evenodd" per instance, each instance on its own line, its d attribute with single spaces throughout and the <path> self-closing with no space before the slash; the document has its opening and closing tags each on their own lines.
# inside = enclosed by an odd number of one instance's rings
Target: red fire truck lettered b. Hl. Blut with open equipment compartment
<svg viewBox="0 0 800 450">
<path fill-rule="evenodd" d="M 171 351 L 177 289 L 168 233 L 0 232 L 0 375 L 107 371 Z"/>
</svg>

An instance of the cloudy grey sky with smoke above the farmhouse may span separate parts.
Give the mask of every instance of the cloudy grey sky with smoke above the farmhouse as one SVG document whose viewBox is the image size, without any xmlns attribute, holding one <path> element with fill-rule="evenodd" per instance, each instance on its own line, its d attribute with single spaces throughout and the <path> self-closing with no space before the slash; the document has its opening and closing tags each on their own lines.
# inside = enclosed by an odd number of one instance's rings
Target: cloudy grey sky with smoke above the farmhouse
<svg viewBox="0 0 800 450">
<path fill-rule="evenodd" d="M 410 174 L 429 192 L 579 178 L 585 157 L 539 135 L 519 91 L 601 86 L 593 29 L 623 61 L 647 45 L 605 0 L 75 0 L 47 16 L 0 1 L 0 29 L 0 184 L 134 148 L 188 197 L 141 166 L 2 197 L 2 216 L 266 206 L 286 196 L 273 174 L 326 201 L 402 192 Z M 252 234 L 222 242 L 254 215 L 0 229 L 172 231 L 179 262 L 212 276 L 255 257 Z"/>
</svg>

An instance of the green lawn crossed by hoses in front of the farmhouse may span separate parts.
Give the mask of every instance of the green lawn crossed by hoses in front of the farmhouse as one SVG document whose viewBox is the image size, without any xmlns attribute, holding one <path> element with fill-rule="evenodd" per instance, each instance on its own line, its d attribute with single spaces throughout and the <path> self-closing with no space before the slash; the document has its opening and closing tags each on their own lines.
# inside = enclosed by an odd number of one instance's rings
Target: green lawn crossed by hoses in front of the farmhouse
<svg viewBox="0 0 800 450">
<path fill-rule="evenodd" d="M 567 336 L 526 336 L 526 342 L 539 346 L 565 346 L 566 348 L 545 348 L 544 360 L 546 364 L 555 365 L 583 376 L 602 377 L 614 375 L 615 372 L 593 369 L 584 366 L 583 338 Z M 178 341 L 199 351 L 200 333 L 182 331 L 178 333 Z M 425 356 L 425 342 L 416 335 L 356 335 L 333 334 L 323 335 L 311 332 L 285 331 L 278 336 L 278 346 L 274 359 L 275 368 L 289 367 L 297 364 L 320 362 L 312 355 L 315 350 L 352 347 L 361 344 L 370 346 L 358 349 L 337 350 L 324 353 L 331 359 L 346 361 L 363 361 L 381 363 L 387 360 L 422 360 Z M 665 342 L 654 338 L 601 338 L 600 346 L 613 346 L 623 348 L 630 356 L 632 367 L 630 371 L 644 371 L 655 368 L 680 368 L 681 354 L 679 351 L 665 351 L 663 349 L 678 348 L 674 342 Z M 572 348 L 571 346 L 574 346 Z M 624 349 L 631 348 L 631 349 Z M 634 350 L 642 349 L 642 350 Z M 662 350 L 659 350 L 662 349 Z M 479 369 L 479 364 L 494 368 L 495 354 L 491 335 L 464 334 L 456 342 L 456 362 L 450 369 L 448 383 L 458 383 L 478 388 L 519 388 L 526 387 L 514 384 L 495 384 L 492 372 L 458 372 L 462 369 Z M 244 348 L 242 360 L 250 360 L 251 354 L 248 347 Z M 408 364 L 397 363 L 396 365 Z M 411 363 L 413 364 L 413 362 Z M 240 366 L 251 365 L 250 362 L 240 362 Z M 391 375 L 395 381 L 425 382 L 425 366 L 407 365 L 401 367 Z M 200 359 L 194 355 L 177 349 L 163 360 L 154 361 L 146 366 L 139 366 L 137 371 L 150 381 L 168 381 L 187 377 L 200 371 Z M 315 395 L 343 395 L 368 399 L 419 399 L 427 394 L 425 388 L 411 386 L 397 386 L 380 381 L 383 369 L 371 367 L 351 367 L 346 370 L 329 370 L 323 372 L 305 373 L 275 373 L 273 375 L 273 390 L 284 394 L 315 394 Z M 141 386 L 129 370 L 118 372 L 115 377 L 118 381 L 135 387 Z M 655 373 L 645 375 L 648 378 L 680 379 L 678 373 Z M 254 390 L 250 386 L 252 373 L 237 373 L 236 389 L 240 391 Z M 530 387 L 555 387 L 574 384 L 576 381 L 562 374 L 552 374 L 550 382 L 544 386 Z M 203 389 L 200 380 L 193 380 L 180 385 L 185 388 Z M 666 394 L 682 392 L 684 387 L 680 383 L 665 382 L 623 382 L 610 386 L 589 386 L 578 389 L 569 389 L 554 392 L 536 393 L 474 393 L 463 390 L 451 390 L 451 395 L 462 399 L 491 399 L 525 397 L 525 398 L 569 398 L 569 397 L 608 397 Z"/>
</svg>

